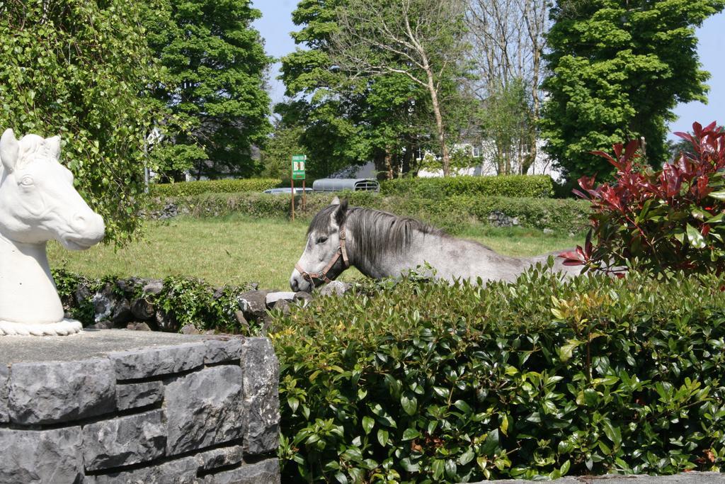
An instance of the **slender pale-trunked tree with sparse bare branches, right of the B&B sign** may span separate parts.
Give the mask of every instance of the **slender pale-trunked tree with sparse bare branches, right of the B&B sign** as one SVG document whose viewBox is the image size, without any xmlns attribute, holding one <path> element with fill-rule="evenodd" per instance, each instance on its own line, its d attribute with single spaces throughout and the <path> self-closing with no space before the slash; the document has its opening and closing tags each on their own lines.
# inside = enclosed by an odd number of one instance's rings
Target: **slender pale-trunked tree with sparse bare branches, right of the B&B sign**
<svg viewBox="0 0 725 484">
<path fill-rule="evenodd" d="M 337 10 L 332 36 L 336 65 L 353 77 L 405 75 L 426 89 L 444 176 L 450 155 L 440 94 L 444 83 L 462 77 L 463 12 L 459 0 L 349 0 Z"/>
</svg>

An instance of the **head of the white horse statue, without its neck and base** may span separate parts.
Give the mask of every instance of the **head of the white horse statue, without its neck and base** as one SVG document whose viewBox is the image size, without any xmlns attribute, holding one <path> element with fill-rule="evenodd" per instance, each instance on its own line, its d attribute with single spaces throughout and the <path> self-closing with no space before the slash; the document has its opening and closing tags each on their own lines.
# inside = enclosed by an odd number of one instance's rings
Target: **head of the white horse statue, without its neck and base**
<svg viewBox="0 0 725 484">
<path fill-rule="evenodd" d="M 28 134 L 0 137 L 0 234 L 36 244 L 57 239 L 70 250 L 103 239 L 103 218 L 73 188 L 73 175 L 58 161 L 60 138 Z"/>
</svg>

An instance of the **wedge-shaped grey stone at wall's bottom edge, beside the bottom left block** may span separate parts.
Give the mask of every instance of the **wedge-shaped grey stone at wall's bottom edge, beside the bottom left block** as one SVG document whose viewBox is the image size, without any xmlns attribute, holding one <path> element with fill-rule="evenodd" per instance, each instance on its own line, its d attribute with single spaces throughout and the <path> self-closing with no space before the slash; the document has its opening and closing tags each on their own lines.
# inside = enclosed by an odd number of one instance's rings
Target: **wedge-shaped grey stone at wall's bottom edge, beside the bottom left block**
<svg viewBox="0 0 725 484">
<path fill-rule="evenodd" d="M 126 472 L 86 477 L 84 484 L 198 484 L 194 457 L 185 457 L 157 466 L 144 467 Z"/>
</svg>

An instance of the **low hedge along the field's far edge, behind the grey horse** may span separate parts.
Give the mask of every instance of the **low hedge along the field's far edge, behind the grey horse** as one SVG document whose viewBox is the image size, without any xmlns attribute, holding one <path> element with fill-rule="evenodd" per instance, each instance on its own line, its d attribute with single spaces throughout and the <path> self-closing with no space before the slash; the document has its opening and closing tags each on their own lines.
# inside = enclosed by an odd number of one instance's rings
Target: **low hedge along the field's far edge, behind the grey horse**
<svg viewBox="0 0 725 484">
<path fill-rule="evenodd" d="M 328 205 L 330 194 L 307 196 L 307 210 L 297 216 L 311 216 Z M 517 218 L 524 227 L 578 232 L 588 224 L 589 204 L 581 200 L 521 197 L 479 197 L 457 195 L 444 199 L 425 197 L 381 196 L 370 192 L 344 194 L 351 205 L 387 210 L 399 216 L 419 218 L 455 233 L 471 222 L 488 223 L 492 213 Z M 191 216 L 225 216 L 244 213 L 252 217 L 288 217 L 289 197 L 268 194 L 205 194 L 199 197 L 156 198 L 149 205 L 149 216 L 175 214 Z"/>
</svg>

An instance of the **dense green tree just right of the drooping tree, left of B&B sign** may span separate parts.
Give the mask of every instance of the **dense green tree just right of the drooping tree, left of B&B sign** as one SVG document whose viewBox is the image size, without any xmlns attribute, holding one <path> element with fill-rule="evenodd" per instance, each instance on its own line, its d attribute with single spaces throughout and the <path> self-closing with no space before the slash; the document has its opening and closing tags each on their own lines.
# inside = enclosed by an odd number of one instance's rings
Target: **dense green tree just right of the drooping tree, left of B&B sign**
<svg viewBox="0 0 725 484">
<path fill-rule="evenodd" d="M 169 74 L 154 97 L 184 126 L 173 147 L 156 156 L 173 160 L 175 168 L 182 160 L 197 178 L 251 176 L 261 169 L 252 146 L 262 144 L 271 128 L 264 81 L 271 59 L 251 27 L 261 13 L 250 4 L 154 0 L 151 5 L 160 14 L 147 23 L 149 46 Z"/>
</svg>

